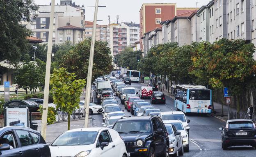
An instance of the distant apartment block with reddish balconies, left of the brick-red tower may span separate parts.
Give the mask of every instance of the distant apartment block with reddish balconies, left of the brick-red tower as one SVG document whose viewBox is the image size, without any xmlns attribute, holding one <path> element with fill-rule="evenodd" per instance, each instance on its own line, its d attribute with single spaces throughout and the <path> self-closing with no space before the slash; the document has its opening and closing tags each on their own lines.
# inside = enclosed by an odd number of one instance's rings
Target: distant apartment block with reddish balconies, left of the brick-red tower
<svg viewBox="0 0 256 157">
<path fill-rule="evenodd" d="M 123 49 L 130 44 L 130 37 L 128 26 L 122 26 L 121 24 L 110 24 L 110 49 L 112 56 L 119 54 Z"/>
</svg>

